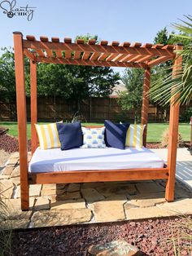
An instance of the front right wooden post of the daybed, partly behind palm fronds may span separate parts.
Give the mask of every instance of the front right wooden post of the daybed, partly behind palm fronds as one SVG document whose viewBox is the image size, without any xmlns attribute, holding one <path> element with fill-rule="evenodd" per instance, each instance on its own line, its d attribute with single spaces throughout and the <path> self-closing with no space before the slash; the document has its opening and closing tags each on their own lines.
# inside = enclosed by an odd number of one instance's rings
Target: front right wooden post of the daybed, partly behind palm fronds
<svg viewBox="0 0 192 256">
<path fill-rule="evenodd" d="M 182 50 L 181 45 L 176 46 L 176 51 Z M 182 58 L 176 56 L 172 68 L 172 76 L 177 75 L 177 71 L 181 69 Z M 174 90 L 174 86 L 172 87 Z M 168 140 L 168 181 L 166 184 L 165 199 L 167 201 L 174 200 L 175 190 L 175 175 L 176 175 L 176 161 L 177 161 L 177 138 L 179 126 L 179 103 L 173 104 L 176 97 L 172 97 L 170 103 L 170 116 L 169 116 L 169 140 Z"/>
</svg>

